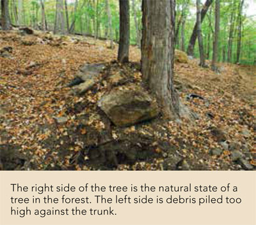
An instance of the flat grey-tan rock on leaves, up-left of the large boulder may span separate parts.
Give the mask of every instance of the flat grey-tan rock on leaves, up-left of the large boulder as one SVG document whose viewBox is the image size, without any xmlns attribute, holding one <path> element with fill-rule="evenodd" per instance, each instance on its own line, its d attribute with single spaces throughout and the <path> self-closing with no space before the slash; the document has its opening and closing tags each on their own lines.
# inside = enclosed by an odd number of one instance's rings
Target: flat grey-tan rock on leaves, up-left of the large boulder
<svg viewBox="0 0 256 225">
<path fill-rule="evenodd" d="M 79 78 L 79 85 L 75 85 L 73 90 L 77 94 L 84 94 L 90 90 L 95 83 L 100 80 L 100 72 L 105 68 L 105 64 L 85 64 L 77 73 L 76 78 Z M 71 85 L 69 85 L 71 86 Z"/>
</svg>

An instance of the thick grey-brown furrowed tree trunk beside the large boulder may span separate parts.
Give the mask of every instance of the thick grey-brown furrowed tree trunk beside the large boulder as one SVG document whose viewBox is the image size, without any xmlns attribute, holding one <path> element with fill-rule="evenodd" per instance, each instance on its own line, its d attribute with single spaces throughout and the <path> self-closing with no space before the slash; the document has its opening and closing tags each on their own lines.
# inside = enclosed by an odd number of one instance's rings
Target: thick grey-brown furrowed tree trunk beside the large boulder
<svg viewBox="0 0 256 225">
<path fill-rule="evenodd" d="M 143 1 L 142 74 L 166 118 L 179 115 L 173 88 L 174 1 Z"/>
</svg>

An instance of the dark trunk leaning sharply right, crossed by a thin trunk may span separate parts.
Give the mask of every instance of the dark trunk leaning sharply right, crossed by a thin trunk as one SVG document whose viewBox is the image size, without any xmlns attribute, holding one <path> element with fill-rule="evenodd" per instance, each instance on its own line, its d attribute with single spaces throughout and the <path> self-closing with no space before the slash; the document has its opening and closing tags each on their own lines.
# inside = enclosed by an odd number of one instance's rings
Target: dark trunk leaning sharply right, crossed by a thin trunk
<svg viewBox="0 0 256 225">
<path fill-rule="evenodd" d="M 204 21 L 204 17 L 206 15 L 209 7 L 211 6 L 211 4 L 212 4 L 212 0 L 206 0 L 204 7 L 202 8 L 202 11 L 201 11 L 201 23 Z M 193 56 L 193 54 L 194 54 L 196 38 L 197 38 L 197 23 L 194 26 L 193 33 L 191 34 L 191 37 L 189 40 L 189 45 L 188 45 L 188 50 L 187 50 L 188 55 Z"/>
</svg>

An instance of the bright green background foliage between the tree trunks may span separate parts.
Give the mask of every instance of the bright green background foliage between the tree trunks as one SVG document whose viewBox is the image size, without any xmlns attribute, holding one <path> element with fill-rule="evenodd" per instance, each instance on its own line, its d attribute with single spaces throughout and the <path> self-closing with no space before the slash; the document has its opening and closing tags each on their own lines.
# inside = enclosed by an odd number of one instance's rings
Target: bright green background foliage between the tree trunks
<svg viewBox="0 0 256 225">
<path fill-rule="evenodd" d="M 64 0 L 63 0 L 64 1 Z M 131 17 L 131 44 L 136 45 L 136 26 L 134 23 L 134 14 L 138 20 L 138 28 L 141 32 L 141 1 L 135 0 L 135 10 L 132 7 L 132 1 L 130 0 L 130 17 Z M 48 29 L 54 29 L 54 21 L 56 14 L 56 0 L 44 0 L 45 15 L 47 18 Z M 106 0 L 67 0 L 68 6 L 68 20 L 69 24 L 75 19 L 76 26 L 74 31 L 76 33 L 83 34 L 95 34 L 95 30 L 98 37 L 105 38 L 108 34 L 108 14 L 106 11 Z M 239 4 L 241 0 L 221 1 L 221 20 L 220 20 L 220 45 L 219 45 L 219 61 L 223 59 L 227 60 L 227 48 L 228 48 L 228 36 L 230 31 L 230 21 L 232 17 L 232 8 L 235 9 L 234 13 L 234 33 L 232 35 L 232 62 L 236 62 L 237 52 L 237 25 L 239 15 Z M 245 2 L 246 3 L 246 2 Z M 119 36 L 119 6 L 117 0 L 109 0 L 109 7 L 111 10 L 111 24 L 113 29 L 113 38 L 118 41 Z M 245 13 L 248 4 L 244 4 L 243 7 L 243 25 L 242 25 L 242 41 L 241 41 L 241 57 L 240 62 L 243 64 L 255 64 L 256 61 L 256 17 L 248 16 Z M 12 20 L 15 20 L 13 15 L 13 8 L 10 7 Z M 184 15 L 186 17 L 185 24 L 185 47 L 188 47 L 189 39 L 193 31 L 196 19 L 195 0 L 177 0 L 176 1 L 176 21 L 177 25 L 179 18 L 182 15 L 182 8 L 184 8 Z M 74 12 L 76 11 L 75 15 Z M 23 0 L 22 19 L 24 24 L 29 26 L 36 26 L 40 24 L 42 20 L 41 4 L 40 0 Z M 66 20 L 66 16 L 65 16 Z M 67 24 L 65 23 L 66 30 Z M 177 27 L 176 27 L 177 28 Z M 207 12 L 207 16 L 202 23 L 202 35 L 204 38 L 204 50 L 205 55 L 209 55 L 209 59 L 212 57 L 212 41 L 214 33 L 214 4 Z M 176 48 L 181 48 L 181 24 L 179 27 L 179 35 Z M 225 55 L 223 55 L 225 54 Z M 195 46 L 195 56 L 198 57 L 198 46 Z"/>
</svg>

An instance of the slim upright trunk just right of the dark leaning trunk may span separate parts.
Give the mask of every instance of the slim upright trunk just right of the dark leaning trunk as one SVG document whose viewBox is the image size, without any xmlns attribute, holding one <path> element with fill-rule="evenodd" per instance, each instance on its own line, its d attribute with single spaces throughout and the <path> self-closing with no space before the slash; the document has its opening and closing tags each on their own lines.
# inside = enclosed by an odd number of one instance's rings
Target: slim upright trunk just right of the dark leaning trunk
<svg viewBox="0 0 256 225">
<path fill-rule="evenodd" d="M 215 0 L 215 33 L 212 50 L 212 70 L 217 71 L 216 62 L 218 61 L 218 47 L 219 47 L 219 33 L 220 33 L 220 0 Z"/>
</svg>

